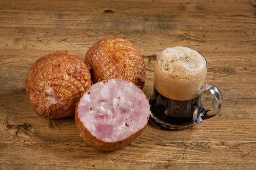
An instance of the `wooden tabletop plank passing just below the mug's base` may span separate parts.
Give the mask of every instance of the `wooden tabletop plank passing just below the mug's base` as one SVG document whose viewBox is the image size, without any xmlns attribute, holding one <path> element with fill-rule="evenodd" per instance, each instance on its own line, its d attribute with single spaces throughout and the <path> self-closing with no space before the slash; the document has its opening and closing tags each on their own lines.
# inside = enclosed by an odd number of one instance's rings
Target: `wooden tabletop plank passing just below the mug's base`
<svg viewBox="0 0 256 170">
<path fill-rule="evenodd" d="M 0 143 L 70 143 L 82 142 L 74 117 L 64 119 L 30 118 L 0 119 Z M 136 140 L 141 143 L 177 141 L 256 141 L 256 119 L 209 119 L 183 131 L 156 128 L 150 122 Z"/>
</svg>

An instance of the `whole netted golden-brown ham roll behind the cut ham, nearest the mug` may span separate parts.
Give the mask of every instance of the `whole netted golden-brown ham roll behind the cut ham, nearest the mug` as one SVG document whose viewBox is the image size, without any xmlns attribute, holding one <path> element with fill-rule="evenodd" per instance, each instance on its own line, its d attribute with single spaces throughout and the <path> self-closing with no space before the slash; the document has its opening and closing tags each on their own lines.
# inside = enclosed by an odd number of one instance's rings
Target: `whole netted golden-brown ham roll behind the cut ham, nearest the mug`
<svg viewBox="0 0 256 170">
<path fill-rule="evenodd" d="M 129 41 L 120 38 L 99 40 L 87 51 L 84 61 L 92 69 L 94 83 L 115 78 L 132 82 L 141 89 L 144 86 L 143 57 Z"/>
</svg>

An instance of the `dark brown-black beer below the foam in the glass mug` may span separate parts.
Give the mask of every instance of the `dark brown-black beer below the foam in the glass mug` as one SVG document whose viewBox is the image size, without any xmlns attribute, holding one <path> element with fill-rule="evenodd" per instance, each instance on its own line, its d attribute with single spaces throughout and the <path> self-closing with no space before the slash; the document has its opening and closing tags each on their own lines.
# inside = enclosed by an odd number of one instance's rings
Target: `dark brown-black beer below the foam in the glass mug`
<svg viewBox="0 0 256 170">
<path fill-rule="evenodd" d="M 178 125 L 188 126 L 193 124 L 193 112 L 201 105 L 201 96 L 187 101 L 176 101 L 161 95 L 154 87 L 150 98 L 151 112 L 161 121 Z"/>
</svg>

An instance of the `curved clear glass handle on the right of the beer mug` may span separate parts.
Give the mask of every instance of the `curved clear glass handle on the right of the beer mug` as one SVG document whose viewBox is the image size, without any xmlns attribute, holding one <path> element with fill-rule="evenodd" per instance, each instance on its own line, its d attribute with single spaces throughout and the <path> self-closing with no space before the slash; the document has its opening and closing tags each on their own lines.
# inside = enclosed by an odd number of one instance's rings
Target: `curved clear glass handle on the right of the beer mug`
<svg viewBox="0 0 256 170">
<path fill-rule="evenodd" d="M 193 121 L 195 124 L 201 123 L 204 119 L 209 119 L 216 116 L 220 112 L 223 103 L 222 95 L 217 86 L 211 84 L 204 84 L 198 90 L 198 94 L 202 94 L 204 92 L 211 93 L 217 101 L 217 105 L 216 108 L 213 110 L 208 110 L 203 108 L 202 106 L 197 106 L 197 108 L 193 112 Z"/>
</svg>

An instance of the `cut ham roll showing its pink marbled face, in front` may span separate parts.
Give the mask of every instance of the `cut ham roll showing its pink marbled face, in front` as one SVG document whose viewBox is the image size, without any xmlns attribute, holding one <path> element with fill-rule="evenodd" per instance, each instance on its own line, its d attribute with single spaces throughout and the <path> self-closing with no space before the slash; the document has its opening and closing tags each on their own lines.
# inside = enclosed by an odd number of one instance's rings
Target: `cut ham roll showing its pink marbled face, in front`
<svg viewBox="0 0 256 170">
<path fill-rule="evenodd" d="M 125 80 L 93 85 L 76 109 L 76 124 L 86 143 L 114 150 L 131 143 L 146 126 L 150 105 L 143 91 Z"/>
</svg>

